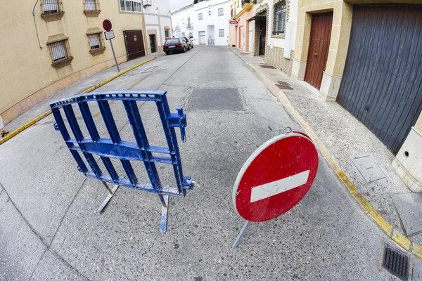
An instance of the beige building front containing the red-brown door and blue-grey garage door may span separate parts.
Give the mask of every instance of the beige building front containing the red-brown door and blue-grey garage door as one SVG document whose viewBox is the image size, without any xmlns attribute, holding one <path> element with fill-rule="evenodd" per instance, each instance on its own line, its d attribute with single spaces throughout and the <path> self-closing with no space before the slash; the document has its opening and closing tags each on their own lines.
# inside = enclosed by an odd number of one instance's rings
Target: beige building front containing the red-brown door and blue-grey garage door
<svg viewBox="0 0 422 281">
<path fill-rule="evenodd" d="M 373 131 L 414 192 L 422 192 L 420 4 L 299 0 L 292 67 L 292 77 Z"/>
</svg>

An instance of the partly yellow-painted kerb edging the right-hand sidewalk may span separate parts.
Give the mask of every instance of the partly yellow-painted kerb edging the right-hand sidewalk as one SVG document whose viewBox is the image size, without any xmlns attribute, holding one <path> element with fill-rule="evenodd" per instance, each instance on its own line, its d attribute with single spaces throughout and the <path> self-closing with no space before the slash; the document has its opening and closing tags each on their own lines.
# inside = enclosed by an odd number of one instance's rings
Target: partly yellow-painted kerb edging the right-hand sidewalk
<svg viewBox="0 0 422 281">
<path fill-rule="evenodd" d="M 236 54 L 236 53 L 235 53 Z M 236 54 L 237 55 L 237 54 Z M 281 104 L 284 108 L 288 111 L 289 115 L 295 119 L 298 124 L 302 127 L 302 129 L 305 130 L 307 135 L 312 138 L 312 141 L 315 143 L 316 147 L 321 152 L 322 157 L 326 159 L 328 164 L 331 166 L 331 169 L 335 172 L 335 174 L 340 178 L 340 181 L 342 181 L 343 185 L 345 185 L 345 188 L 350 192 L 350 195 L 352 195 L 352 198 L 357 202 L 359 207 L 361 207 L 362 210 L 364 210 L 366 216 L 371 218 L 371 220 L 376 223 L 378 228 L 383 230 L 383 232 L 390 237 L 391 240 L 399 244 L 400 247 L 405 249 L 406 251 L 409 251 L 411 254 L 414 254 L 415 256 L 418 256 L 419 258 L 422 258 L 422 247 L 418 244 L 415 244 L 414 242 L 411 242 L 407 237 L 402 235 L 398 230 L 395 230 L 392 228 L 390 223 L 385 221 L 385 219 L 378 214 L 378 212 L 371 207 L 371 204 L 369 204 L 368 201 L 366 201 L 364 195 L 362 195 L 359 190 L 357 190 L 356 186 L 352 181 L 350 181 L 350 178 L 346 175 L 345 171 L 343 171 L 340 168 L 340 165 L 337 161 L 335 161 L 335 158 L 331 153 L 328 151 L 324 143 L 321 141 L 321 139 L 316 136 L 316 133 L 312 130 L 311 126 L 305 121 L 305 119 L 299 114 L 299 112 L 293 107 L 293 105 L 290 103 L 290 100 L 288 100 L 287 96 L 283 91 L 281 91 L 275 84 L 271 81 L 271 79 L 265 77 L 262 73 L 260 73 L 259 70 L 257 70 L 254 66 L 248 64 L 245 62 L 245 64 L 249 67 L 252 72 L 254 72 L 257 77 L 262 81 L 262 83 L 267 86 L 267 89 L 271 91 L 271 93 L 280 100 Z"/>
</svg>

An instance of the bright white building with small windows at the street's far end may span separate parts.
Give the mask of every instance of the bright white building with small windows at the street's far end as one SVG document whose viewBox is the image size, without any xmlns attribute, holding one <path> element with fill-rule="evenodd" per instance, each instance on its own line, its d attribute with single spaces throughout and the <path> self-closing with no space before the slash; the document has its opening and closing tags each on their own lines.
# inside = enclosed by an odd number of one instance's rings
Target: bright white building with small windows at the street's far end
<svg viewBox="0 0 422 281">
<path fill-rule="evenodd" d="M 195 0 L 172 13 L 174 37 L 191 37 L 194 44 L 229 45 L 229 2 Z"/>
</svg>

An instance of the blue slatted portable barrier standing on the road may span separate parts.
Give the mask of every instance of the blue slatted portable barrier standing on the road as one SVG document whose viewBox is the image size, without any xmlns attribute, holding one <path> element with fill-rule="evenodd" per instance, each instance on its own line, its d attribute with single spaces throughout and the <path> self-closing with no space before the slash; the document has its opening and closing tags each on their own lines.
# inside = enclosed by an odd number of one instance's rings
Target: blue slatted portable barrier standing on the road
<svg viewBox="0 0 422 281">
<path fill-rule="evenodd" d="M 160 231 L 162 233 L 167 230 L 169 196 L 184 197 L 186 190 L 193 189 L 191 177 L 184 177 L 182 171 L 179 146 L 177 145 L 177 136 L 174 131 L 174 128 L 180 128 L 181 140 L 185 141 L 186 114 L 184 114 L 182 107 L 176 108 L 177 113 L 170 112 L 166 93 L 166 91 L 102 91 L 73 96 L 50 104 L 56 119 L 54 127 L 60 131 L 66 145 L 68 145 L 70 153 L 77 162 L 77 169 L 88 178 L 96 178 L 102 181 L 109 192 L 98 212 L 101 212 L 106 207 L 119 186 L 153 192 L 158 195 L 162 204 L 160 223 Z M 122 140 L 110 110 L 110 101 L 123 104 L 136 142 Z M 153 146 L 148 143 L 137 102 L 155 103 L 160 115 L 162 129 L 164 129 L 167 147 Z M 89 104 L 98 105 L 102 119 L 106 124 L 107 136 L 101 136 L 98 133 Z M 82 133 L 82 124 L 79 124 L 75 110 L 80 111 L 84 125 L 87 127 L 88 136 Z M 66 122 L 70 126 L 72 135 L 75 136 L 74 138 L 70 136 L 70 132 L 65 126 L 63 113 L 67 120 Z M 81 155 L 87 160 L 88 165 L 85 164 Z M 161 155 L 167 155 L 167 157 Z M 100 169 L 94 156 L 99 158 L 98 161 L 101 160 L 103 162 L 107 171 Z M 124 175 L 117 174 L 111 161 L 112 159 L 120 161 L 124 169 Z M 136 177 L 136 171 L 134 171 L 131 164 L 134 161 L 143 162 L 149 183 L 140 182 L 139 178 Z M 172 165 L 174 178 L 177 183 L 175 187 L 161 183 L 155 163 Z M 109 188 L 107 183 L 112 183 L 114 187 Z"/>
</svg>

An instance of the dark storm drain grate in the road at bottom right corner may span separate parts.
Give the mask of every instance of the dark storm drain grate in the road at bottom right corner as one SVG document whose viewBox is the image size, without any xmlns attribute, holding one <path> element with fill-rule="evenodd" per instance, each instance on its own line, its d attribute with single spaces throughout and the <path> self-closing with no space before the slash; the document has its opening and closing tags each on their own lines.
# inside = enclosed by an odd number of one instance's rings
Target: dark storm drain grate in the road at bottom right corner
<svg viewBox="0 0 422 281">
<path fill-rule="evenodd" d="M 409 279 L 409 256 L 394 247 L 385 244 L 383 268 L 400 280 Z"/>
</svg>

